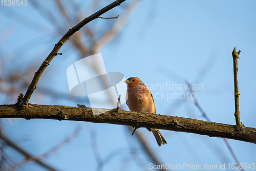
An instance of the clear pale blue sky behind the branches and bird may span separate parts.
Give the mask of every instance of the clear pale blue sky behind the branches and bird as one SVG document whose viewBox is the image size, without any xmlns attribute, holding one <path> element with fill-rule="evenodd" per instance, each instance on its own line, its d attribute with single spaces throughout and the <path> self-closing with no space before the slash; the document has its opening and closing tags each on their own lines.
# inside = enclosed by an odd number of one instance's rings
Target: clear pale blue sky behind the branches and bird
<svg viewBox="0 0 256 171">
<path fill-rule="evenodd" d="M 49 3 L 48 1 L 47 3 Z M 110 3 L 110 1 L 108 1 Z M 126 1 L 125 3 L 129 3 Z M 106 3 L 107 4 L 107 3 Z M 104 5 L 106 5 L 104 4 Z M 239 65 L 240 118 L 245 126 L 256 127 L 255 1 L 140 1 L 125 27 L 102 54 L 106 71 L 123 73 L 125 78 L 139 77 L 145 84 L 202 84 L 195 90 L 197 100 L 211 121 L 235 124 L 233 64 L 231 52 L 241 50 Z M 116 8 L 122 8 L 122 5 Z M 2 12 L 2 9 L 3 12 Z M 16 13 L 30 16 L 42 31 L 35 31 L 12 19 Z M 118 9 L 104 16 L 118 14 Z M 91 12 L 93 13 L 93 11 Z M 0 6 L 0 51 L 9 70 L 26 69 L 31 62 L 36 69 L 61 38 L 54 28 L 29 4 L 27 7 Z M 8 14 L 7 16 L 5 16 Z M 15 16 L 14 16 L 15 17 Z M 110 20 L 103 20 L 102 25 Z M 96 27 L 102 27 L 97 25 Z M 33 27 L 33 26 L 31 26 Z M 97 28 L 95 28 L 97 29 Z M 7 38 L 4 35 L 10 32 Z M 39 41 L 40 40 L 40 41 Z M 67 42 L 38 82 L 56 92 L 69 92 L 66 70 L 79 59 Z M 8 58 L 7 58 L 8 57 Z M 13 62 L 15 60 L 15 62 Z M 32 61 L 31 61 L 32 60 Z M 35 71 L 36 71 L 35 69 Z M 49 74 L 52 73 L 52 74 Z M 29 75 L 28 80 L 33 75 Z M 149 86 L 148 86 L 149 87 Z M 173 90 L 151 89 L 153 95 Z M 176 91 L 186 93 L 188 90 Z M 22 92 L 25 93 L 25 92 Z M 17 94 L 18 96 L 18 94 Z M 83 99 L 79 98 L 80 104 Z M 86 100 L 84 100 L 86 101 Z M 13 101 L 2 101 L 15 103 Z M 34 92 L 30 103 L 76 106 L 77 100 L 57 100 Z M 158 114 L 205 120 L 193 100 L 155 99 Z M 123 106 L 124 110 L 129 110 Z M 4 132 L 34 155 L 40 155 L 69 137 L 77 126 L 79 136 L 53 153 L 46 162 L 61 170 L 95 170 L 92 130 L 100 156 L 110 158 L 103 170 L 148 170 L 140 144 L 126 126 L 57 120 L 1 119 Z M 217 164 L 234 163 L 224 140 L 189 133 L 161 131 L 168 144 L 159 147 L 152 133 L 139 129 L 162 163 Z M 255 144 L 228 140 L 241 163 L 255 163 Z M 131 147 L 132 146 L 132 147 Z M 138 160 L 130 149 L 134 148 Z M 26 165 L 22 170 L 39 168 Z"/>
</svg>

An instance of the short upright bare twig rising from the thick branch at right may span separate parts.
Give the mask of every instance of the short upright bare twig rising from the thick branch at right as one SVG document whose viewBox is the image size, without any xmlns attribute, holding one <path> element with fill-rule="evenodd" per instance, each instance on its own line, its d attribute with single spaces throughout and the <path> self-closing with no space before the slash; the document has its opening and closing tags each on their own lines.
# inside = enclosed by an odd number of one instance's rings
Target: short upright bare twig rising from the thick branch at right
<svg viewBox="0 0 256 171">
<path fill-rule="evenodd" d="M 233 70 L 234 70 L 234 117 L 236 117 L 236 124 L 238 127 L 241 127 L 240 122 L 240 113 L 239 113 L 239 90 L 238 90 L 238 58 L 241 51 L 236 51 L 236 47 L 232 51 L 233 57 Z"/>
</svg>

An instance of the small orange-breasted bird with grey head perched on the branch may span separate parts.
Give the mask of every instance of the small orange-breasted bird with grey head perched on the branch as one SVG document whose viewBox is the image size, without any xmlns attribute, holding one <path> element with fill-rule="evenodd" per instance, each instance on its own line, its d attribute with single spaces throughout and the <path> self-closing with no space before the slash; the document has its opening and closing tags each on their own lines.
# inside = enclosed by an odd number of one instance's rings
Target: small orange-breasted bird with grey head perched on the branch
<svg viewBox="0 0 256 171">
<path fill-rule="evenodd" d="M 155 102 L 150 89 L 138 77 L 128 78 L 124 82 L 127 83 L 126 104 L 130 111 L 156 114 Z M 147 130 L 153 132 L 159 146 L 167 144 L 158 129 L 147 128 Z"/>
</svg>

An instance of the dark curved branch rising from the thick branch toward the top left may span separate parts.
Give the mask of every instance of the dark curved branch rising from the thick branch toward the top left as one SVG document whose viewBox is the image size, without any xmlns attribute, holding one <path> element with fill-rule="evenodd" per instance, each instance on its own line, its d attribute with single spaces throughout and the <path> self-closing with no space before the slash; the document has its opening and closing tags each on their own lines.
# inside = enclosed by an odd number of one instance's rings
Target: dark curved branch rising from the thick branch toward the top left
<svg viewBox="0 0 256 171">
<path fill-rule="evenodd" d="M 58 54 L 59 49 L 62 47 L 63 44 L 65 44 L 65 42 L 70 39 L 70 37 L 77 32 L 78 30 L 80 30 L 84 25 L 90 23 L 92 20 L 98 18 L 100 15 L 102 15 L 103 13 L 113 9 L 116 6 L 119 6 L 121 3 L 123 3 L 125 0 L 118 0 L 113 2 L 112 4 L 102 8 L 101 10 L 95 12 L 94 14 L 92 14 L 91 16 L 84 18 L 79 24 L 77 24 L 76 26 L 74 26 L 72 29 L 70 29 L 58 42 L 57 44 L 55 44 L 53 50 L 51 51 L 51 53 L 47 56 L 47 58 L 44 60 L 44 62 L 42 62 L 41 66 L 39 67 L 39 69 L 37 70 L 37 72 L 35 73 L 31 84 L 28 87 L 28 90 L 26 92 L 26 94 L 24 95 L 23 98 L 23 103 L 24 104 L 28 104 L 29 99 L 31 97 L 31 95 L 33 94 L 34 90 L 36 89 L 36 84 L 39 81 L 40 76 L 42 75 L 42 73 L 45 71 L 45 69 L 47 68 L 47 66 L 50 65 L 51 60 Z"/>
</svg>

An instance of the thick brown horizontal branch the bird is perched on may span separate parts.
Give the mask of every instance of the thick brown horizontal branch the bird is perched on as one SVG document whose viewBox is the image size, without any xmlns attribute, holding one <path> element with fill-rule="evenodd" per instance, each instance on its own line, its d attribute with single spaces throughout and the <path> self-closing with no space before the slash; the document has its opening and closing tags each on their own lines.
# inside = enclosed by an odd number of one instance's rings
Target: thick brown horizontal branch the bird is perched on
<svg viewBox="0 0 256 171">
<path fill-rule="evenodd" d="M 97 112 L 99 115 L 94 116 L 91 108 L 36 104 L 29 104 L 20 108 L 16 104 L 0 105 L 0 118 L 75 120 L 133 127 L 152 127 L 210 137 L 229 138 L 256 144 L 256 129 L 251 127 L 243 126 L 238 129 L 236 125 L 174 116 L 140 114 L 122 110 L 95 109 L 94 114 Z"/>
</svg>

